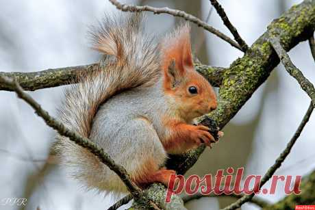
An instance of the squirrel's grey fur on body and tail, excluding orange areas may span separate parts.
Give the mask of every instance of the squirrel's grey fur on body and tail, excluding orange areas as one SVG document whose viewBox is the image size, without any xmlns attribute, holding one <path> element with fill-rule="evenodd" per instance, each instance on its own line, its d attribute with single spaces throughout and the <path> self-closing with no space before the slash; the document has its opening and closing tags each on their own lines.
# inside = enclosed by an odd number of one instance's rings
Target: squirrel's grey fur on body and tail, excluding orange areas
<svg viewBox="0 0 315 210">
<path fill-rule="evenodd" d="M 136 90 L 149 90 L 162 77 L 157 44 L 144 34 L 141 20 L 141 14 L 105 16 L 92 31 L 92 38 L 94 48 L 110 56 L 101 62 L 98 71 L 79 75 L 79 83 L 66 88 L 60 109 L 60 119 L 66 127 L 99 144 L 131 176 L 138 164 L 145 161 L 145 154 L 161 164 L 166 158 L 155 128 L 142 118 L 152 109 L 142 110 L 144 104 L 134 101 Z M 147 101 L 144 107 L 150 107 Z M 136 109 L 142 113 L 132 114 Z M 118 176 L 88 150 L 66 137 L 57 138 L 56 148 L 69 174 L 88 189 L 125 192 Z"/>
</svg>

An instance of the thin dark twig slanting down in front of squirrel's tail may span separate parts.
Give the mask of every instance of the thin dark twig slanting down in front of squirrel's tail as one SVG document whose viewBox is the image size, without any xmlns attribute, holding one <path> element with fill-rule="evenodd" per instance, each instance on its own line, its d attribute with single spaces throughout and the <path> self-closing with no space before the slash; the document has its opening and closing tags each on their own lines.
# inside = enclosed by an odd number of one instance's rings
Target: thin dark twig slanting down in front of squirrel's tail
<svg viewBox="0 0 315 210">
<path fill-rule="evenodd" d="M 142 194 L 141 189 L 133 181 L 131 181 L 125 168 L 123 168 L 123 166 L 117 165 L 114 162 L 114 159 L 104 152 L 103 148 L 99 148 L 99 146 L 88 140 L 88 138 L 79 135 L 79 133 L 67 129 L 64 124 L 50 116 L 47 111 L 42 109 L 42 107 L 40 107 L 40 105 L 34 99 L 32 99 L 31 96 L 29 96 L 29 94 L 23 91 L 21 86 L 14 79 L 0 75 L 0 82 L 10 86 L 10 88 L 16 92 L 20 99 L 23 99 L 26 103 L 28 103 L 36 111 L 36 114 L 45 120 L 49 127 L 58 131 L 60 135 L 68 137 L 76 144 L 87 148 L 92 154 L 99 157 L 101 162 L 103 162 L 106 166 L 108 166 L 108 168 L 110 168 L 110 170 L 113 170 L 121 178 L 121 181 L 125 183 L 127 189 L 134 196 L 134 198 L 140 198 Z"/>
</svg>

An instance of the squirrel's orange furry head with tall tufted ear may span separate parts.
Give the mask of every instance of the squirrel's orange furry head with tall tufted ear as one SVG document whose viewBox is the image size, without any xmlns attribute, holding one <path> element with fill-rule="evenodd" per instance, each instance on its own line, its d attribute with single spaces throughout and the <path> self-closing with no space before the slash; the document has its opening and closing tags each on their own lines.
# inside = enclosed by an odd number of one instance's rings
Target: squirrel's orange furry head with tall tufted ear
<svg viewBox="0 0 315 210">
<path fill-rule="evenodd" d="M 216 94 L 210 83 L 194 70 L 190 48 L 190 27 L 179 27 L 162 46 L 164 92 L 176 105 L 173 112 L 186 122 L 216 109 Z M 196 92 L 190 92 L 193 88 Z"/>
</svg>

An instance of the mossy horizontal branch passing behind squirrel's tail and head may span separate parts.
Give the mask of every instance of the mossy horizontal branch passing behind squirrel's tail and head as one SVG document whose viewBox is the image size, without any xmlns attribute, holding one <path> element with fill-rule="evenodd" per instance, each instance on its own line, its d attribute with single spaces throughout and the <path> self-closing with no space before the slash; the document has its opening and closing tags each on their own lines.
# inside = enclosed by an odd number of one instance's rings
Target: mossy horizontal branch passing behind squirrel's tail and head
<svg viewBox="0 0 315 210">
<path fill-rule="evenodd" d="M 199 71 L 212 86 L 220 86 L 225 68 L 212 67 L 203 64 L 195 64 L 196 70 Z M 24 90 L 39 90 L 42 88 L 52 88 L 75 83 L 76 76 L 83 71 L 92 71 L 99 68 L 98 64 L 89 64 L 84 66 L 71 66 L 65 68 L 54 68 L 31 73 L 3 73 L 0 76 L 15 78 Z M 12 91 L 10 86 L 0 84 L 0 90 Z"/>
</svg>

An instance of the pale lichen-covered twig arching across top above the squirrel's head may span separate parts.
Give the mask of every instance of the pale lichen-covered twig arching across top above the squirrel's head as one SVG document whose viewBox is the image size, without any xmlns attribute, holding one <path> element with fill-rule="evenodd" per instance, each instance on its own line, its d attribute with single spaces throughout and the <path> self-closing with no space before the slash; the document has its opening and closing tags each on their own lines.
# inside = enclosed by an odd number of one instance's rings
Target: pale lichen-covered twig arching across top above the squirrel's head
<svg viewBox="0 0 315 210">
<path fill-rule="evenodd" d="M 149 5 L 143 5 L 143 6 L 127 5 L 124 3 L 119 3 L 116 0 L 109 0 L 109 1 L 114 6 L 116 6 L 116 8 L 118 10 L 121 10 L 123 12 L 147 11 L 147 12 L 153 12 L 153 14 L 164 13 L 164 14 L 171 14 L 173 16 L 178 16 L 178 17 L 184 18 L 186 21 L 190 21 L 192 23 L 197 24 L 199 27 L 203 27 L 205 30 L 210 31 L 212 34 L 215 34 L 219 38 L 221 38 L 221 39 L 225 40 L 226 42 L 228 42 L 229 44 L 231 44 L 231 46 L 236 47 L 237 49 L 242 51 L 242 48 L 240 47 L 240 45 L 238 43 L 234 42 L 234 40 L 232 40 L 231 38 L 229 38 L 228 36 L 226 36 L 222 32 L 218 31 L 214 27 L 210 26 L 209 24 L 205 23 L 204 21 L 201 21 L 199 18 L 197 18 L 196 16 L 193 16 L 192 14 L 188 14 L 188 13 L 181 11 L 181 10 L 173 10 L 173 9 L 166 8 L 166 7 L 165 8 L 153 8 Z"/>
</svg>

